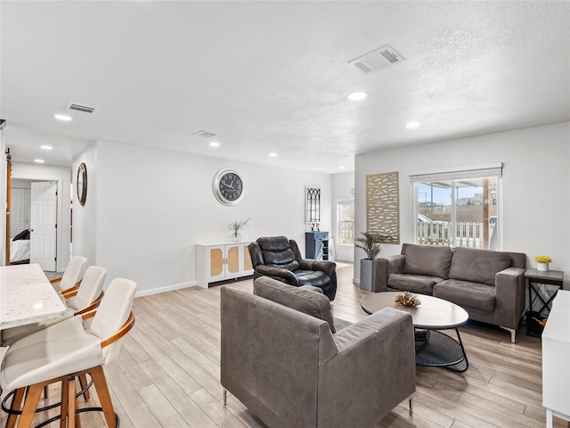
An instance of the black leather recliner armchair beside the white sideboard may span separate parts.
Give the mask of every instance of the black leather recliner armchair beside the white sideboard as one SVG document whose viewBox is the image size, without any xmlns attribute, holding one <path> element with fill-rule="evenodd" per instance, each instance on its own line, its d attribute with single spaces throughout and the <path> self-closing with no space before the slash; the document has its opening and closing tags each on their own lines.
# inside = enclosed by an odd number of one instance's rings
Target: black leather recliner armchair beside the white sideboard
<svg viewBox="0 0 570 428">
<path fill-rule="evenodd" d="M 286 236 L 258 238 L 248 245 L 254 279 L 270 276 L 282 283 L 319 287 L 330 299 L 337 294 L 337 265 L 333 261 L 303 259 L 297 242 Z"/>
</svg>

